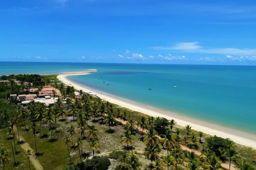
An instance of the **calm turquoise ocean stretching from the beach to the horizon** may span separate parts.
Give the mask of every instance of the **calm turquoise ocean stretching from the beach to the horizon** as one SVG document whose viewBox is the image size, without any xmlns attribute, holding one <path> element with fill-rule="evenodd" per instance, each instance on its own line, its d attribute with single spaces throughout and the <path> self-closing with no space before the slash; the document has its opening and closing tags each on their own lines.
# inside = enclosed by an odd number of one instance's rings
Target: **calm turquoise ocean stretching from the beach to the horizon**
<svg viewBox="0 0 256 170">
<path fill-rule="evenodd" d="M 0 75 L 86 69 L 98 71 L 69 79 L 143 105 L 256 135 L 256 66 L 0 62 Z"/>
</svg>

